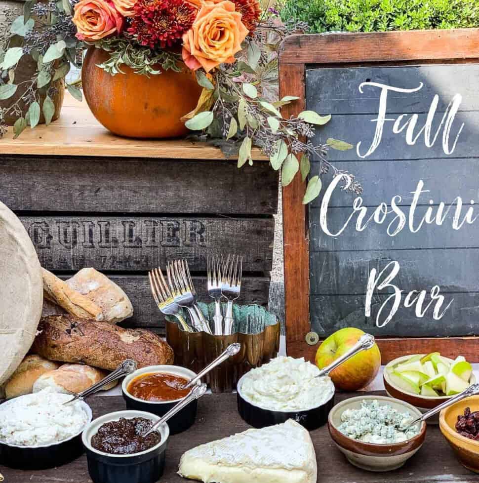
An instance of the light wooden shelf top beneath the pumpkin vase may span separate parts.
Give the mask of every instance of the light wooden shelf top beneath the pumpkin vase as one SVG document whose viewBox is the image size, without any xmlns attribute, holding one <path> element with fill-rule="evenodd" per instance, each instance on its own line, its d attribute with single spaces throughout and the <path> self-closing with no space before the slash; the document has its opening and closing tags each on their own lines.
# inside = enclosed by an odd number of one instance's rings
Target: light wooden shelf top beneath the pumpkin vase
<svg viewBox="0 0 479 483">
<path fill-rule="evenodd" d="M 257 148 L 253 160 L 265 160 Z M 128 139 L 107 131 L 94 117 L 86 102 L 65 94 L 60 118 L 49 126 L 29 127 L 13 139 L 10 127 L 0 138 L 0 156 L 114 156 L 125 158 L 168 158 L 224 160 L 223 153 L 213 146 L 183 139 Z"/>
</svg>

